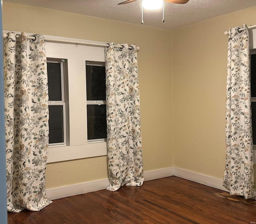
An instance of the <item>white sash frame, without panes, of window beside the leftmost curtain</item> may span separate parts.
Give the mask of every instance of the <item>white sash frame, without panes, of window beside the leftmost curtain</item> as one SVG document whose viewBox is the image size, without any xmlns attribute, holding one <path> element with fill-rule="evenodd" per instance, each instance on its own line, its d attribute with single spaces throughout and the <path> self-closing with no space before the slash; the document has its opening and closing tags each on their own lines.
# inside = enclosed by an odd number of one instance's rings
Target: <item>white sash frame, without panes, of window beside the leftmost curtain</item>
<svg viewBox="0 0 256 224">
<path fill-rule="evenodd" d="M 47 58 L 47 62 L 50 63 L 60 63 L 60 81 L 61 81 L 61 101 L 48 101 L 49 106 L 62 106 L 62 113 L 63 113 L 63 142 L 61 143 L 49 143 L 49 147 L 56 146 L 56 145 L 66 145 L 67 139 L 67 131 L 66 131 L 66 97 L 65 97 L 65 86 L 64 86 L 64 61 L 65 59 L 58 59 L 58 58 Z"/>
</svg>

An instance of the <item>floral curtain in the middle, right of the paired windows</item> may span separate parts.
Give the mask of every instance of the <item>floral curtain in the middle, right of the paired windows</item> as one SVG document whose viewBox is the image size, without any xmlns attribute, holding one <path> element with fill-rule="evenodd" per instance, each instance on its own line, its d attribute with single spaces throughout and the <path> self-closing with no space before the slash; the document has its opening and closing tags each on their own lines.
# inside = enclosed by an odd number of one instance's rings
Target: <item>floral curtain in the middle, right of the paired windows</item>
<svg viewBox="0 0 256 224">
<path fill-rule="evenodd" d="M 108 177 L 107 190 L 141 186 L 144 180 L 140 91 L 136 45 L 105 48 Z"/>
</svg>

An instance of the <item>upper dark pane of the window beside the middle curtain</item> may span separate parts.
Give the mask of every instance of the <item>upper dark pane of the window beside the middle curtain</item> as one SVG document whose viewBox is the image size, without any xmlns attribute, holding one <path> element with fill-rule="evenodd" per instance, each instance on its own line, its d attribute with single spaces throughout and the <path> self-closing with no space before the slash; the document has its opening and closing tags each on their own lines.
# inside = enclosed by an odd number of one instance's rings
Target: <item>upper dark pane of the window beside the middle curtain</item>
<svg viewBox="0 0 256 224">
<path fill-rule="evenodd" d="M 86 65 L 87 100 L 106 100 L 105 66 Z"/>
</svg>

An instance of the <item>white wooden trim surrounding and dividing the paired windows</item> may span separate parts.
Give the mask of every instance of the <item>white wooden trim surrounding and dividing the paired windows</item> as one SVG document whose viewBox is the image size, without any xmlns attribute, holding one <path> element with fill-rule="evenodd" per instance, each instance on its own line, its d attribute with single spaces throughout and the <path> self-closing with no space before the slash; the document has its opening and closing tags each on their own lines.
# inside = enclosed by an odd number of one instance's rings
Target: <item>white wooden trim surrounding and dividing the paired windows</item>
<svg viewBox="0 0 256 224">
<path fill-rule="evenodd" d="M 3 33 L 10 30 L 3 30 Z M 21 33 L 21 31 L 12 31 Z M 33 35 L 32 33 L 27 33 Z M 93 40 L 66 38 L 44 35 L 45 38 L 106 44 Z M 46 42 L 46 57 L 65 58 L 68 60 L 68 111 L 69 136 L 68 145 L 49 147 L 47 163 L 99 157 L 107 155 L 106 141 L 87 141 L 87 109 L 86 109 L 86 63 L 85 61 L 105 61 L 104 47 L 81 46 L 79 44 L 60 44 Z M 68 114 L 67 114 L 68 113 Z"/>
</svg>

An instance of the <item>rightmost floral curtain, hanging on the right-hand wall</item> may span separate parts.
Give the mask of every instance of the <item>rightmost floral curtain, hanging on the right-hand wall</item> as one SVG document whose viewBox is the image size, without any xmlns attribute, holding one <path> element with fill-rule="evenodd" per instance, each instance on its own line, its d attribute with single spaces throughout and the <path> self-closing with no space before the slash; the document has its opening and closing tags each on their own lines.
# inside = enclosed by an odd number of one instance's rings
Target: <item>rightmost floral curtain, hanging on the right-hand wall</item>
<svg viewBox="0 0 256 224">
<path fill-rule="evenodd" d="M 230 28 L 226 85 L 226 167 L 223 186 L 231 195 L 255 198 L 252 151 L 249 35 Z"/>
</svg>

